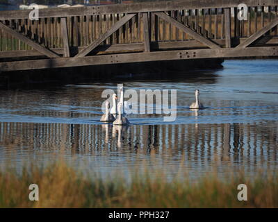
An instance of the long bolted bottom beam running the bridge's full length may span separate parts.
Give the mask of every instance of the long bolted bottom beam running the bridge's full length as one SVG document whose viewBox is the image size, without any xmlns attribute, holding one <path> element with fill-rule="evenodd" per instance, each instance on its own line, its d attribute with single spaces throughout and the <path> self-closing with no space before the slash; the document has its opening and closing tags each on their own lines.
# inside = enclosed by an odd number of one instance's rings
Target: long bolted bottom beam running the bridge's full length
<svg viewBox="0 0 278 222">
<path fill-rule="evenodd" d="M 0 62 L 0 71 L 30 69 L 49 69 L 60 67 L 79 67 L 88 65 L 109 65 L 132 62 L 152 62 L 164 60 L 193 60 L 199 58 L 240 58 L 256 56 L 278 56 L 278 46 L 193 49 L 178 51 L 156 51 L 149 53 L 123 53 L 105 56 L 86 56 L 84 58 L 52 58 L 46 60 L 27 60 L 17 62 Z"/>
</svg>

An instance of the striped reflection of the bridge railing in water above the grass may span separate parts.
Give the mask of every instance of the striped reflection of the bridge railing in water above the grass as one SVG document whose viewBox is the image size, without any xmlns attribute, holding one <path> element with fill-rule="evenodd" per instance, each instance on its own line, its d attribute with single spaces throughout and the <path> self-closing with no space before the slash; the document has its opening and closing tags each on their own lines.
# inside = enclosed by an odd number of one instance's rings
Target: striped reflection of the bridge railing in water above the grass
<svg viewBox="0 0 278 222">
<path fill-rule="evenodd" d="M 277 123 L 274 123 L 274 125 Z M 208 167 L 246 172 L 277 167 L 277 127 L 272 123 L 129 126 L 0 123 L 1 162 L 40 164 L 63 155 L 73 167 L 101 170 L 157 167 L 204 173 Z M 15 155 L 15 153 L 17 155 Z M 48 158 L 46 158 L 46 156 Z M 76 166 L 76 163 L 78 164 Z"/>
</svg>

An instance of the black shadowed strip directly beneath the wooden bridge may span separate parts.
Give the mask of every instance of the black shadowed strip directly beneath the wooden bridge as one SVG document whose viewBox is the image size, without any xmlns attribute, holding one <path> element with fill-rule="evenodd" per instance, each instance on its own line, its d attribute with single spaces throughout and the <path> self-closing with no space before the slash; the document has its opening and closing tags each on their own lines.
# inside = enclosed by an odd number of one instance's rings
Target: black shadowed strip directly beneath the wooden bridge
<svg viewBox="0 0 278 222">
<path fill-rule="evenodd" d="M 125 83 L 130 80 L 183 82 L 209 79 L 215 69 L 222 69 L 223 60 L 188 60 L 142 62 L 90 67 L 70 67 L 30 71 L 10 71 L 0 74 L 0 88 L 35 89 L 83 83 Z M 52 67 L 50 60 L 49 67 Z M 208 83 L 208 82 L 207 82 Z"/>
</svg>

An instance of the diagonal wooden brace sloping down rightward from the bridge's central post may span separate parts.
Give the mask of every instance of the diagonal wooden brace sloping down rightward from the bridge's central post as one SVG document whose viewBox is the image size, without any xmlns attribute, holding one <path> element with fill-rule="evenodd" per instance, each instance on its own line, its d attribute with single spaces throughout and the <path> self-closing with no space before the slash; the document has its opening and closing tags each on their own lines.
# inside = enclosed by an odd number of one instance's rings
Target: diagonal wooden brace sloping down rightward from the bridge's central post
<svg viewBox="0 0 278 222">
<path fill-rule="evenodd" d="M 165 12 L 155 12 L 155 15 L 158 17 L 161 17 L 161 19 L 164 19 L 166 22 L 169 22 L 170 24 L 176 26 L 177 28 L 181 29 L 181 31 L 188 33 L 188 35 L 191 35 L 195 38 L 195 40 L 198 40 L 199 42 L 202 42 L 202 44 L 205 44 L 206 46 L 210 47 L 211 49 L 219 49 L 221 48 L 214 42 L 211 42 L 211 40 L 206 39 L 204 36 L 200 35 L 199 33 L 196 33 L 191 28 L 181 24 L 177 20 L 173 19 L 169 15 L 166 15 Z"/>
</svg>

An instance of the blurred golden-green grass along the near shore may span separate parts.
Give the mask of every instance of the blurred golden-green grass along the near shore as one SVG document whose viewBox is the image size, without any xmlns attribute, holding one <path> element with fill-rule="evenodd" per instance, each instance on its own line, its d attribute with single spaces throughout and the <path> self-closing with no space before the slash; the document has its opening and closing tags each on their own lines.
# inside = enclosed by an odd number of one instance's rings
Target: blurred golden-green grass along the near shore
<svg viewBox="0 0 278 222">
<path fill-rule="evenodd" d="M 7 167 L 6 167 L 7 168 Z M 278 178 L 275 173 L 244 173 L 227 176 L 209 173 L 190 182 L 188 176 L 169 180 L 163 172 L 131 173 L 128 182 L 120 173 L 101 178 L 85 176 L 63 161 L 48 167 L 0 171 L 0 207 L 278 207 Z M 29 185 L 38 184 L 39 201 L 28 199 Z M 237 187 L 247 185 L 247 201 L 238 200 Z"/>
</svg>

